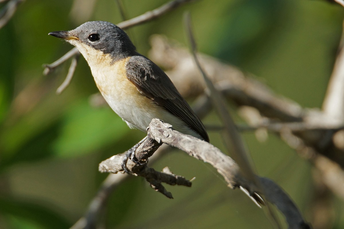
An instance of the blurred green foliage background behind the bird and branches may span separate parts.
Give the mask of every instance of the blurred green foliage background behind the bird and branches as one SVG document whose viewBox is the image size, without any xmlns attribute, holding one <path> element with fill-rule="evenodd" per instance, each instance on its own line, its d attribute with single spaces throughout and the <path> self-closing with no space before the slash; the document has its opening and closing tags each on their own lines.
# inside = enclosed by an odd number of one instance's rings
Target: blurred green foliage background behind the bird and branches
<svg viewBox="0 0 344 229">
<path fill-rule="evenodd" d="M 155 9 L 166 0 L 122 0 L 125 18 Z M 5 3 L 0 3 L 4 7 Z M 324 98 L 342 32 L 344 9 L 321 0 L 200 0 L 127 30 L 138 51 L 148 55 L 152 34 L 187 47 L 183 13 L 190 11 L 200 52 L 233 64 L 303 107 Z M 85 212 L 107 174 L 98 163 L 144 137 L 107 107 L 93 107 L 98 90 L 83 57 L 61 94 L 69 62 L 44 76 L 51 63 L 72 48 L 47 34 L 86 21 L 123 21 L 112 0 L 28 0 L 0 29 L 0 228 L 69 228 Z M 193 100 L 190 100 L 192 104 Z M 237 123 L 243 123 L 230 110 Z M 219 123 L 216 114 L 205 124 Z M 218 133 L 212 144 L 224 150 Z M 319 217 L 312 165 L 279 137 L 259 142 L 242 135 L 257 171 L 291 196 L 309 222 Z M 214 169 L 175 151 L 154 163 L 157 170 L 196 179 L 191 188 L 166 187 L 174 199 L 154 192 L 141 178 L 117 188 L 104 211 L 106 228 L 273 228 L 262 210 L 230 190 Z M 338 184 L 340 185 L 340 184 Z M 344 228 L 343 199 L 329 195 L 325 228 Z M 321 214 L 320 214 L 321 216 Z M 283 217 L 280 217 L 283 221 Z M 285 225 L 284 225 L 285 226 Z"/>
</svg>

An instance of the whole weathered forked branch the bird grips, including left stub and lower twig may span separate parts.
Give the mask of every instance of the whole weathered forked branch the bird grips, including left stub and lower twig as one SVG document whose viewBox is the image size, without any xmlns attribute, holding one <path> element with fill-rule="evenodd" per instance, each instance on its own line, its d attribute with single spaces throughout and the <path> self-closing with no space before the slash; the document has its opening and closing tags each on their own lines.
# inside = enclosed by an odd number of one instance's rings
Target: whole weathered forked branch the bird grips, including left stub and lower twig
<svg viewBox="0 0 344 229">
<path fill-rule="evenodd" d="M 239 166 L 235 163 L 235 161 L 230 158 L 229 156 L 222 153 L 219 149 L 214 147 L 213 145 L 209 144 L 206 141 L 202 141 L 198 138 L 192 137 L 190 135 L 184 135 L 179 133 L 176 130 L 173 130 L 171 128 L 170 124 L 164 123 L 159 119 L 153 119 L 152 122 L 149 125 L 148 129 L 148 135 L 147 139 L 151 139 L 152 149 L 155 149 L 155 147 L 159 146 L 160 144 L 166 143 L 170 146 L 179 148 L 183 151 L 185 151 L 190 156 L 202 160 L 204 162 L 207 162 L 211 164 L 215 169 L 217 169 L 218 173 L 221 174 L 225 181 L 227 182 L 228 186 L 231 188 L 235 187 L 242 187 L 244 190 L 247 190 L 248 194 L 250 196 L 255 195 L 257 190 L 257 186 L 253 184 L 252 182 L 245 179 L 241 173 Z M 145 143 L 143 143 L 145 144 Z M 148 144 L 149 145 L 149 144 Z M 143 147 L 147 149 L 147 146 Z M 140 152 L 141 149 L 138 149 L 136 151 L 137 157 L 141 157 L 143 154 L 148 155 L 146 153 Z M 144 160 L 146 159 L 146 156 L 144 156 Z M 121 163 L 122 163 L 123 155 L 115 155 L 111 158 L 107 159 L 106 161 L 100 163 L 99 169 L 100 171 L 105 172 L 119 172 L 122 171 Z M 143 158 L 140 158 L 143 159 Z M 144 172 L 147 172 L 147 174 L 152 174 L 154 176 L 155 172 L 150 172 L 151 169 L 147 168 L 146 165 L 133 165 L 133 162 L 128 161 L 127 167 L 128 169 L 133 169 L 136 173 L 136 175 L 140 174 L 140 166 L 141 169 L 143 168 Z M 110 169 L 111 168 L 111 169 Z M 112 171 L 114 169 L 114 171 Z M 166 174 L 171 174 L 169 171 L 164 170 L 164 173 L 162 176 L 165 178 L 168 178 Z M 160 175 L 160 174 L 159 174 Z M 147 176 L 144 176 L 147 177 Z M 168 178 L 169 179 L 169 178 Z M 184 178 L 180 178 L 181 181 L 178 182 L 178 178 L 175 180 L 172 180 L 172 183 L 175 184 L 175 182 L 183 183 L 183 185 L 188 186 L 188 181 Z M 274 184 L 272 181 L 268 180 L 267 178 L 259 178 L 259 180 L 262 182 L 262 187 L 264 188 L 264 191 L 266 193 L 267 199 L 275 204 L 283 214 L 286 216 L 286 220 L 289 224 L 289 228 L 309 228 L 308 224 L 305 223 L 299 213 L 299 210 L 297 207 L 293 204 L 291 199 L 288 197 L 284 191 L 278 187 L 278 185 Z M 158 184 L 161 184 L 160 178 L 156 179 L 153 178 L 154 182 L 158 182 Z M 184 184 L 184 182 L 186 182 Z M 271 187 L 271 189 L 270 189 Z M 159 191 L 164 192 L 163 187 L 158 187 Z M 260 191 L 259 191 L 260 192 Z M 294 227 L 295 225 L 298 225 L 298 227 Z"/>
</svg>

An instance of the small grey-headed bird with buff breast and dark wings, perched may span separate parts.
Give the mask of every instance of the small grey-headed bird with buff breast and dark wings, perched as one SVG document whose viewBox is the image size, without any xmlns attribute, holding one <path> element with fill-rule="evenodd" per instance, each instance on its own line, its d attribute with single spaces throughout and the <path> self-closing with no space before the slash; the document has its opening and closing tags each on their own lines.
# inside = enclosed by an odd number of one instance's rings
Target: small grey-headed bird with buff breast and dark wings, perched
<svg viewBox="0 0 344 229">
<path fill-rule="evenodd" d="M 183 134 L 209 142 L 203 123 L 170 78 L 138 53 L 120 27 L 110 22 L 90 21 L 74 30 L 49 35 L 64 39 L 80 51 L 105 101 L 130 128 L 147 131 L 151 120 L 159 118 Z M 128 158 L 137 162 L 137 147 L 138 144 L 128 150 L 122 162 L 125 172 Z"/>
</svg>

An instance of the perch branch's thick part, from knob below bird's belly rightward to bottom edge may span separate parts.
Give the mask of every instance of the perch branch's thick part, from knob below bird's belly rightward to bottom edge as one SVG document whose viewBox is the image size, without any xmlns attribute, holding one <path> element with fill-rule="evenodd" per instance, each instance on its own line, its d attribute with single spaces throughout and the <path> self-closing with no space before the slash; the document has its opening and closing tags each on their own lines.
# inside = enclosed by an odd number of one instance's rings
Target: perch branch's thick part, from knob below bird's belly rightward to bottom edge
<svg viewBox="0 0 344 229">
<path fill-rule="evenodd" d="M 257 192 L 257 186 L 241 176 L 235 161 L 213 145 L 198 138 L 181 134 L 159 119 L 153 119 L 149 126 L 149 133 L 155 140 L 179 148 L 190 156 L 211 164 L 224 177 L 230 187 L 242 186 L 250 195 Z M 259 178 L 259 180 L 262 182 L 261 186 L 264 188 L 267 199 L 285 214 L 290 229 L 310 228 L 302 219 L 292 200 L 278 185 L 267 178 Z"/>
</svg>

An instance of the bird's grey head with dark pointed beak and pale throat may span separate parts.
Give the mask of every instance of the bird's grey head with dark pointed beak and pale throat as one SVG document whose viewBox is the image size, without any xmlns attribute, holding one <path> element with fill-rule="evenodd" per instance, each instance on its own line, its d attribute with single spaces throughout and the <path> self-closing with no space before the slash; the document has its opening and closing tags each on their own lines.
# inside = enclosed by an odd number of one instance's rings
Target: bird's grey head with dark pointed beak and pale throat
<svg viewBox="0 0 344 229">
<path fill-rule="evenodd" d="M 49 34 L 66 39 L 84 56 L 90 55 L 90 48 L 110 54 L 114 59 L 131 56 L 136 51 L 128 35 L 110 22 L 86 22 L 71 31 L 56 31 Z"/>
</svg>

